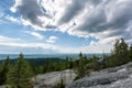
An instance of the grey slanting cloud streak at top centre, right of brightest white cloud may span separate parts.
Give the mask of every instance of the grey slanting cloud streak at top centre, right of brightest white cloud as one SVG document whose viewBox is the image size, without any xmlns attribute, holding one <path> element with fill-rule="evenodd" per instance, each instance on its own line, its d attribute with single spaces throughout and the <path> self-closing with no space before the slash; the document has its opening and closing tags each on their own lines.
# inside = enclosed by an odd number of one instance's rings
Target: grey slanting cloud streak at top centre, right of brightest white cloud
<svg viewBox="0 0 132 88">
<path fill-rule="evenodd" d="M 76 15 L 80 14 L 88 2 L 91 4 L 98 4 L 99 0 L 72 0 L 70 4 L 65 8 L 65 12 L 58 24 L 68 23 Z"/>
</svg>

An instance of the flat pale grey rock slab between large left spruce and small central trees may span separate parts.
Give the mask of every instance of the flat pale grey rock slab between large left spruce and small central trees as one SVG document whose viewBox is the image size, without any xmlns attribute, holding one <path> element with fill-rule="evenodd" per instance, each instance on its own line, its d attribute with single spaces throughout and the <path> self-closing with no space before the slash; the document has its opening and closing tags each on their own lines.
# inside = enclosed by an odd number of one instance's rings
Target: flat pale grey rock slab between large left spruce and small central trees
<svg viewBox="0 0 132 88">
<path fill-rule="evenodd" d="M 32 78 L 34 88 L 52 88 L 56 84 L 59 84 L 63 79 L 65 85 L 70 84 L 76 77 L 76 74 L 73 69 L 66 69 L 63 72 L 53 72 L 42 75 L 37 75 Z"/>
</svg>

